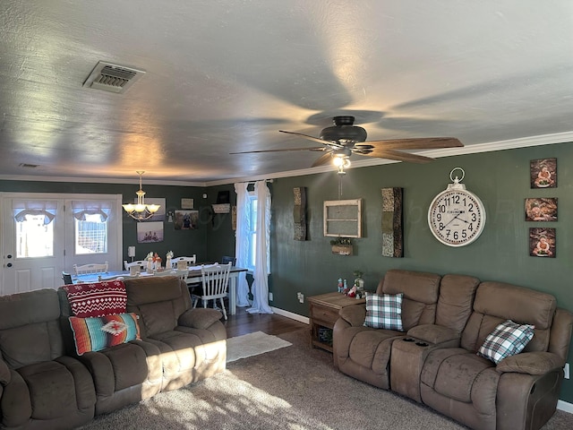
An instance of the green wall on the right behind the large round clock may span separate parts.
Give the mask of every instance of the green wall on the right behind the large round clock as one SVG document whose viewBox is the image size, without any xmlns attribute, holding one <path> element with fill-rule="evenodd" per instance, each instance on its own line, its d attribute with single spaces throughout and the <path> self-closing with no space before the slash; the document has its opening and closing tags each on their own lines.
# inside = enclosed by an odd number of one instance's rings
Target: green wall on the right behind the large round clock
<svg viewBox="0 0 573 430">
<path fill-rule="evenodd" d="M 531 189 L 531 159 L 557 158 L 558 187 Z M 453 248 L 441 245 L 430 232 L 427 211 L 443 191 L 452 168 L 466 170 L 464 184 L 477 194 L 487 211 L 482 236 L 473 244 Z M 374 289 L 389 269 L 461 273 L 481 280 L 499 280 L 549 292 L 558 305 L 573 312 L 571 290 L 573 246 L 573 146 L 570 143 L 529 149 L 500 150 L 437 159 L 431 164 L 390 164 L 349 169 L 342 178 L 342 199 L 363 199 L 363 238 L 354 240 L 355 254 L 331 254 L 329 237 L 322 236 L 322 203 L 338 200 L 336 173 L 280 178 L 272 184 L 273 235 L 271 242 L 272 305 L 308 315 L 308 305 L 296 300 L 335 291 L 339 277 L 364 272 L 366 288 Z M 309 240 L 293 240 L 293 188 L 305 186 Z M 381 188 L 404 188 L 404 258 L 381 255 Z M 526 197 L 557 197 L 556 222 L 526 222 Z M 528 229 L 556 228 L 556 258 L 530 257 Z M 569 350 L 569 363 L 573 354 Z M 561 399 L 573 402 L 573 383 L 565 381 Z"/>
</svg>

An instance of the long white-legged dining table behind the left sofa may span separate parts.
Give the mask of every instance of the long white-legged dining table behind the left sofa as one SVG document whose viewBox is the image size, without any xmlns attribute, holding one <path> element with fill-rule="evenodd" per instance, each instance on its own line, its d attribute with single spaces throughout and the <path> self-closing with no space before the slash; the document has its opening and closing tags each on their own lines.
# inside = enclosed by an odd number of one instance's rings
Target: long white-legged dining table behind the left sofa
<svg viewBox="0 0 573 430">
<path fill-rule="evenodd" d="M 205 263 L 205 267 L 213 266 L 213 263 Z M 239 274 L 247 271 L 243 267 L 231 266 L 229 271 L 229 309 L 228 313 L 231 315 L 236 314 L 236 286 Z M 134 275 L 130 274 L 129 271 L 107 271 L 104 273 L 86 273 L 81 275 L 74 275 L 72 280 L 74 284 L 89 283 L 89 282 L 101 282 L 106 280 L 129 280 L 133 278 L 145 278 L 148 276 L 177 276 L 184 278 L 185 272 L 187 272 L 186 282 L 187 285 L 193 285 L 202 282 L 201 275 L 201 264 L 189 266 L 186 270 L 159 270 L 159 271 L 141 271 Z"/>
</svg>

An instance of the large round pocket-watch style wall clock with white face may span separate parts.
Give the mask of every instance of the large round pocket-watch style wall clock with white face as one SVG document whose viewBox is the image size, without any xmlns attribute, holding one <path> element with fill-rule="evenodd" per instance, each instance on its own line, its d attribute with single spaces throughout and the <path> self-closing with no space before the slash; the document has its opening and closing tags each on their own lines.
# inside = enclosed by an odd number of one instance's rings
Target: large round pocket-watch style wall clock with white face
<svg viewBox="0 0 573 430">
<path fill-rule="evenodd" d="M 462 177 L 452 178 L 456 170 L 462 171 Z M 449 172 L 453 184 L 449 184 L 433 199 L 428 210 L 428 225 L 432 235 L 442 244 L 464 246 L 475 241 L 485 227 L 485 207 L 483 202 L 460 184 L 466 176 L 462 168 Z"/>
</svg>

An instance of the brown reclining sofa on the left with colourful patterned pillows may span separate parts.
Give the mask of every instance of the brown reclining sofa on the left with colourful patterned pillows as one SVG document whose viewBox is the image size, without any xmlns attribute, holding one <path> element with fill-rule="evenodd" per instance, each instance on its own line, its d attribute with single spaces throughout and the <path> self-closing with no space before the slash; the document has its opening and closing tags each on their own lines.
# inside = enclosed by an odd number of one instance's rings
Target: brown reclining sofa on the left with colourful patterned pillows
<svg viewBox="0 0 573 430">
<path fill-rule="evenodd" d="M 62 288 L 0 297 L 0 428 L 66 429 L 222 372 L 227 332 L 176 277 L 125 280 L 141 340 L 78 356 Z"/>
</svg>

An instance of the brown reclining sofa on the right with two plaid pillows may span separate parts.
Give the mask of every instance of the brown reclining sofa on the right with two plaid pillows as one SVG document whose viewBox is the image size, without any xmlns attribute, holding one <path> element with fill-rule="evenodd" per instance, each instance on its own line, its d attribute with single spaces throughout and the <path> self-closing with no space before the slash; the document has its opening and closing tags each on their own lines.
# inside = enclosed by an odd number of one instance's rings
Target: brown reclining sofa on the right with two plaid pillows
<svg viewBox="0 0 573 430">
<path fill-rule="evenodd" d="M 377 294 L 398 293 L 404 331 L 365 327 L 365 305 L 340 311 L 333 340 L 341 372 L 475 429 L 535 430 L 552 417 L 573 327 L 555 297 L 464 275 L 388 271 Z M 506 320 L 535 325 L 535 335 L 496 365 L 476 352 Z"/>
</svg>

